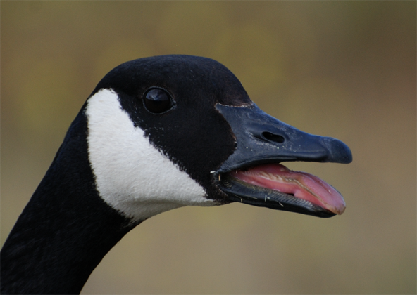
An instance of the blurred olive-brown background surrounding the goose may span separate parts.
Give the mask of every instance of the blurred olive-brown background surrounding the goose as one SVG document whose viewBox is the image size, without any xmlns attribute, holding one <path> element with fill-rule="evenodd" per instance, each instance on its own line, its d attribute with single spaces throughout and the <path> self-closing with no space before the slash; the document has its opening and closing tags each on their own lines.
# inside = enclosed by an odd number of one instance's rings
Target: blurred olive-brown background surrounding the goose
<svg viewBox="0 0 417 295">
<path fill-rule="evenodd" d="M 223 63 L 269 114 L 354 162 L 287 163 L 342 216 L 187 207 L 132 230 L 84 294 L 416 294 L 416 1 L 1 1 L 1 244 L 104 75 Z"/>
</svg>

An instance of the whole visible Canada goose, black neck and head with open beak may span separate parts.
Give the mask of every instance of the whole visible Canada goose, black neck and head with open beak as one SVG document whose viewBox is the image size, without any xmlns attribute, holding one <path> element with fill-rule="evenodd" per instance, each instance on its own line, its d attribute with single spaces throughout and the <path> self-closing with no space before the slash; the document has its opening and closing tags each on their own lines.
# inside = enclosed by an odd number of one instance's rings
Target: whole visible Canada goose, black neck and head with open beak
<svg viewBox="0 0 417 295">
<path fill-rule="evenodd" d="M 285 161 L 349 163 L 351 152 L 261 111 L 215 60 L 123 63 L 82 106 L 8 236 L 1 293 L 80 293 L 127 232 L 181 206 L 342 214 L 342 195 Z"/>
</svg>

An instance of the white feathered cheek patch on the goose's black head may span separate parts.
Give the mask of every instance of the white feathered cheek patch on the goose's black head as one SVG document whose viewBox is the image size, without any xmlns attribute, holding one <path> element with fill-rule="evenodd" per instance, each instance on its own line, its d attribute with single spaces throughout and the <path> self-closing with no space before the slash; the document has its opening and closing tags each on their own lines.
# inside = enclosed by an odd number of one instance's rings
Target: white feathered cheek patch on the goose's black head
<svg viewBox="0 0 417 295">
<path fill-rule="evenodd" d="M 159 152 L 122 110 L 118 95 L 101 89 L 88 100 L 89 162 L 101 198 L 134 220 L 181 206 L 213 206 L 196 181 Z"/>
</svg>

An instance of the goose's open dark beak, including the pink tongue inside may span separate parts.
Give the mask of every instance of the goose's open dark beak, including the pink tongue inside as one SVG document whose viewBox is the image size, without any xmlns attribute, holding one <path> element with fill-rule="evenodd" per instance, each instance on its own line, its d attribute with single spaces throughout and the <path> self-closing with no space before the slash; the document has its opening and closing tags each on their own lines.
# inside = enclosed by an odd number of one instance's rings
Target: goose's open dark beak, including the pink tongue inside
<svg viewBox="0 0 417 295">
<path fill-rule="evenodd" d="M 235 152 L 214 173 L 232 202 L 318 217 L 342 214 L 344 199 L 317 176 L 291 171 L 281 162 L 352 161 L 349 147 L 335 138 L 315 136 L 280 122 L 256 105 L 216 105 L 235 134 Z"/>
</svg>

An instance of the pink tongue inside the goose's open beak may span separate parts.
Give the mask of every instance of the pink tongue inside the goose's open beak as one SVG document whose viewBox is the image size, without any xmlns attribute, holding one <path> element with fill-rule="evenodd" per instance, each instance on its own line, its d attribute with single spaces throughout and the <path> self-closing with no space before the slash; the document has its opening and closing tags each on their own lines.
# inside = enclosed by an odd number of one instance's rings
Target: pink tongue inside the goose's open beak
<svg viewBox="0 0 417 295">
<path fill-rule="evenodd" d="M 346 206 L 342 195 L 325 181 L 306 172 L 292 171 L 281 164 L 233 171 L 231 175 L 246 183 L 305 199 L 335 214 L 342 214 Z"/>
</svg>

